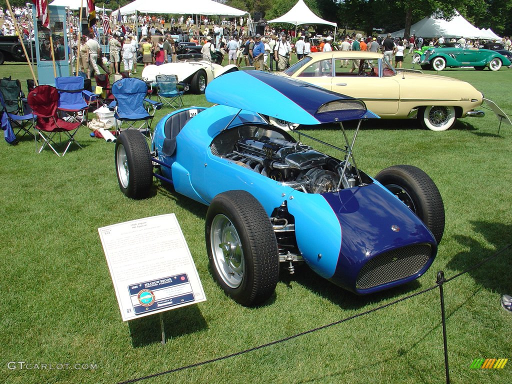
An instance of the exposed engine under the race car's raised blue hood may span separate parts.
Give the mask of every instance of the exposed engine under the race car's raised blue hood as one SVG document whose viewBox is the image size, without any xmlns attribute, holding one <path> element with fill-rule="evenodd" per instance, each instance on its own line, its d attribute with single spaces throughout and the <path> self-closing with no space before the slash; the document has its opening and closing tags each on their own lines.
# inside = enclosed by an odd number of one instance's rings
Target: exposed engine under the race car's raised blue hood
<svg viewBox="0 0 512 384">
<path fill-rule="evenodd" d="M 322 194 L 358 185 L 354 167 L 312 147 L 281 138 L 240 138 L 223 157 L 304 193 Z"/>
</svg>

